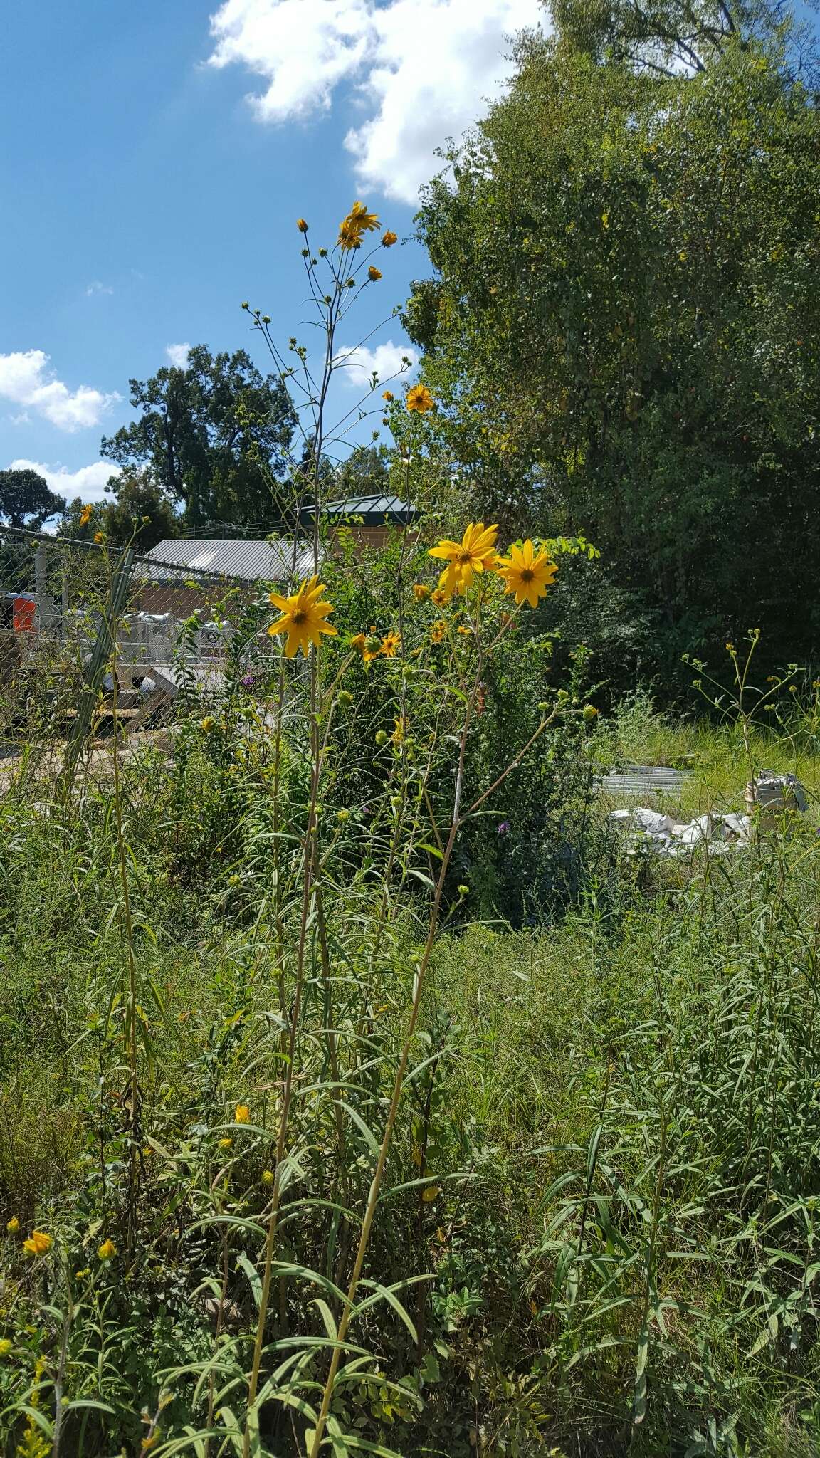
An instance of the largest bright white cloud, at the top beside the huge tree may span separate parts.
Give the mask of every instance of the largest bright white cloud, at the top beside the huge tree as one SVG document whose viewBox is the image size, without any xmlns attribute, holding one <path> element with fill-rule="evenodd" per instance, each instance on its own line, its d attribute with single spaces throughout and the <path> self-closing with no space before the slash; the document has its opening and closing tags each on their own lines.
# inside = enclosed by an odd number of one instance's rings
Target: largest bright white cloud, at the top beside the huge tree
<svg viewBox="0 0 820 1458">
<path fill-rule="evenodd" d="M 327 111 L 340 82 L 356 86 L 366 121 L 344 144 L 362 187 L 414 203 L 511 73 L 509 38 L 543 17 L 540 0 L 225 0 L 210 28 L 210 64 L 263 77 L 261 121 Z"/>
</svg>

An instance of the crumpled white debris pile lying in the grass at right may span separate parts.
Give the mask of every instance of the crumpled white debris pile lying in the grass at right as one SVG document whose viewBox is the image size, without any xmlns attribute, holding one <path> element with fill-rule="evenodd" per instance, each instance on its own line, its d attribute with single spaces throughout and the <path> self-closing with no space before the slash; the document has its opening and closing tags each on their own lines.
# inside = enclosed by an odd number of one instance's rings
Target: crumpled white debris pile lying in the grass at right
<svg viewBox="0 0 820 1458">
<path fill-rule="evenodd" d="M 805 790 L 794 774 L 762 770 L 746 787 L 749 815 L 697 815 L 692 821 L 676 821 L 671 815 L 639 806 L 633 811 L 611 811 L 610 824 L 626 833 L 627 856 L 655 854 L 683 857 L 696 846 L 708 846 L 711 854 L 724 854 L 735 846 L 749 846 L 760 831 L 784 824 L 784 811 L 805 814 Z M 775 819 L 776 814 L 776 819 Z"/>
</svg>

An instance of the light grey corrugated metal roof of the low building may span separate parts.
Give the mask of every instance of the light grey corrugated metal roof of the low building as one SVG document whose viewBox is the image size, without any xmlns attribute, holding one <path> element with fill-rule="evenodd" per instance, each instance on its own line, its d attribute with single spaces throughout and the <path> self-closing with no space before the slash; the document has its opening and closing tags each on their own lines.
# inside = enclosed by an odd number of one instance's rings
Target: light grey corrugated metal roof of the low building
<svg viewBox="0 0 820 1458">
<path fill-rule="evenodd" d="M 178 580 L 179 570 L 201 572 L 209 577 L 241 577 L 244 582 L 285 582 L 290 576 L 306 577 L 314 570 L 314 548 L 309 544 L 260 541 L 193 541 L 166 538 L 142 558 L 140 572 L 159 580 Z M 155 572 L 156 564 L 156 572 Z M 162 567 L 171 570 L 163 573 Z"/>
</svg>

